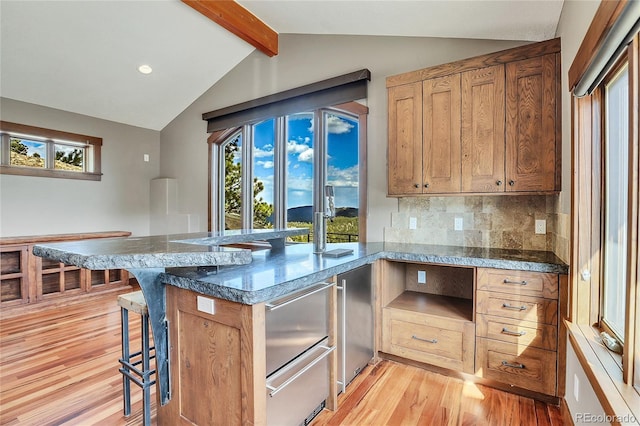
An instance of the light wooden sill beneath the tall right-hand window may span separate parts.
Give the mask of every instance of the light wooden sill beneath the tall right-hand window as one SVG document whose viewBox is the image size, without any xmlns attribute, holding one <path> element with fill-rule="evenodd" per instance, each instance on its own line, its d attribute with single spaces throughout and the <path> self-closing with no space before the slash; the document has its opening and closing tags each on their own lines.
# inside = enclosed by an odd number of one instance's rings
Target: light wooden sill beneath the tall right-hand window
<svg viewBox="0 0 640 426">
<path fill-rule="evenodd" d="M 600 342 L 597 330 L 591 326 L 569 321 L 565 321 L 565 324 L 571 346 L 605 414 L 614 419 L 635 418 L 635 422 L 640 424 L 640 394 L 633 386 L 623 382 L 620 356 Z"/>
</svg>

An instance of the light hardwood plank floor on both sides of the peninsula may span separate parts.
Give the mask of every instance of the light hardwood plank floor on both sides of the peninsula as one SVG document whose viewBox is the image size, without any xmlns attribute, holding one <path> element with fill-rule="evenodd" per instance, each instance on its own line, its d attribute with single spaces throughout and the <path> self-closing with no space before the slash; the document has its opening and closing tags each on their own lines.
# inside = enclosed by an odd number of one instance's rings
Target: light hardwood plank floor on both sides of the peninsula
<svg viewBox="0 0 640 426">
<path fill-rule="evenodd" d="M 139 319 L 131 315 L 132 345 Z M 116 295 L 4 319 L 0 313 L 1 425 L 139 425 L 122 415 L 120 310 Z M 155 398 L 155 396 L 154 396 Z M 155 407 L 155 404 L 153 404 Z M 155 424 L 155 409 L 152 423 Z M 384 361 L 367 367 L 321 425 L 560 425 L 557 407 Z"/>
</svg>

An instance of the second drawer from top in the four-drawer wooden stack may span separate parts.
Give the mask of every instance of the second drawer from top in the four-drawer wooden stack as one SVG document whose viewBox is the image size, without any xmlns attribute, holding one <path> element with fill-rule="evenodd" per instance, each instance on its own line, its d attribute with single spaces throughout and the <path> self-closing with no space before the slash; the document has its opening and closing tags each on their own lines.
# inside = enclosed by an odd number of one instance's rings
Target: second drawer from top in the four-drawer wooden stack
<svg viewBox="0 0 640 426">
<path fill-rule="evenodd" d="M 558 301 L 541 297 L 477 291 L 476 312 L 533 323 L 558 323 Z"/>
</svg>

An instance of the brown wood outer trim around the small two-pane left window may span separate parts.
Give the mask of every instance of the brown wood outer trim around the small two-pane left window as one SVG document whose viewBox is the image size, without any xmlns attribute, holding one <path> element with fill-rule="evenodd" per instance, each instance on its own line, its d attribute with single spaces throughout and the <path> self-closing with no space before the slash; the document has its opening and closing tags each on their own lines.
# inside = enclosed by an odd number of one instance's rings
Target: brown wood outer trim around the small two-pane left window
<svg viewBox="0 0 640 426">
<path fill-rule="evenodd" d="M 63 178 L 63 179 L 80 179 L 80 180 L 93 180 L 93 181 L 99 181 L 102 179 L 102 173 L 101 173 L 102 138 L 98 138 L 95 136 L 81 135 L 78 133 L 64 132 L 60 130 L 45 129 L 42 127 L 34 127 L 26 124 L 0 121 L 0 134 L 4 134 L 4 133 L 7 133 L 7 134 L 18 133 L 23 135 L 46 138 L 47 140 L 64 140 L 69 142 L 79 142 L 79 143 L 91 145 L 92 157 L 89 161 L 91 161 L 91 164 L 92 164 L 92 171 L 73 172 L 73 171 L 56 170 L 56 169 L 44 169 L 44 168 L 39 169 L 35 167 L 12 166 L 8 164 L 8 159 L 4 158 L 9 156 L 9 153 L 7 152 L 3 156 L 2 163 L 0 164 L 0 174 L 51 177 L 51 178 Z"/>
</svg>

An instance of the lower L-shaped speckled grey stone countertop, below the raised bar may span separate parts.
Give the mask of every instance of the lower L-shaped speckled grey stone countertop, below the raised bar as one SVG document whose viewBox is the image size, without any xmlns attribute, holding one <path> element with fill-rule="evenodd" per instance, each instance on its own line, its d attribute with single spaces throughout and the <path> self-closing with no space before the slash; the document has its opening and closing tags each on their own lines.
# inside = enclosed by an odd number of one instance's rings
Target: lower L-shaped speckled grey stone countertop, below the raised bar
<svg viewBox="0 0 640 426">
<path fill-rule="evenodd" d="M 286 246 L 281 252 L 253 252 L 245 266 L 222 266 L 214 274 L 197 268 L 171 268 L 162 274 L 167 284 L 244 304 L 256 304 L 326 280 L 377 259 L 566 274 L 568 266 L 553 253 L 474 247 L 399 243 L 328 244 L 353 254 L 331 258 L 313 253 L 312 244 Z"/>
</svg>

